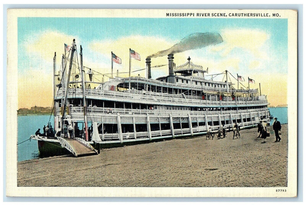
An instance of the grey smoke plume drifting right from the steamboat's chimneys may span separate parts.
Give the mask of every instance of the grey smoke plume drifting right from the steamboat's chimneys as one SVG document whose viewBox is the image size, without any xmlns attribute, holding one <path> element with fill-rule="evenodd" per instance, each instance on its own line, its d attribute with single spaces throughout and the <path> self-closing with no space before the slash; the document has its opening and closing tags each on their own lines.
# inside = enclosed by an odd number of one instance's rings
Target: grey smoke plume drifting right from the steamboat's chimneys
<svg viewBox="0 0 306 206">
<path fill-rule="evenodd" d="M 219 33 L 193 33 L 182 39 L 181 42 L 173 45 L 171 48 L 159 51 L 155 54 L 148 56 L 147 58 L 162 57 L 168 54 L 175 54 L 187 50 L 200 49 L 205 46 L 216 45 L 222 42 L 223 39 Z"/>
</svg>

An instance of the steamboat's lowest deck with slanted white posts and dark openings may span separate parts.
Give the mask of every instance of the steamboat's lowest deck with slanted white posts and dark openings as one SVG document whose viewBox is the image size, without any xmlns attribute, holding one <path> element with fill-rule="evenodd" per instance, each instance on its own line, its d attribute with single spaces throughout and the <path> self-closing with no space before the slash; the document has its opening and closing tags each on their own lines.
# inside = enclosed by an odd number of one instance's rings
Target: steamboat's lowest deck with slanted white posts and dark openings
<svg viewBox="0 0 306 206">
<path fill-rule="evenodd" d="M 74 136 L 85 139 L 84 116 L 72 113 Z M 230 114 L 199 115 L 156 115 L 149 114 L 121 114 L 88 113 L 88 142 L 116 143 L 158 138 L 174 138 L 206 134 L 208 130 L 214 132 L 218 127 L 225 127 L 228 131 L 234 123 L 243 128 L 256 127 L 260 120 L 270 121 L 269 110 L 241 112 Z M 59 123 L 59 116 L 55 121 Z M 223 126 L 224 125 L 224 126 Z"/>
</svg>

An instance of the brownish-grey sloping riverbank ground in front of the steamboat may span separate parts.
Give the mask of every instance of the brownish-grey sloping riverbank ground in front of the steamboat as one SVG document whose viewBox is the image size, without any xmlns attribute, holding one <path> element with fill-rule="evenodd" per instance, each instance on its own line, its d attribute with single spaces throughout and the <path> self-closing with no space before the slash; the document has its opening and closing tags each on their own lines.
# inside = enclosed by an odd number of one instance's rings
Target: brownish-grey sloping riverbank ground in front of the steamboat
<svg viewBox="0 0 306 206">
<path fill-rule="evenodd" d="M 288 130 L 267 143 L 257 128 L 218 140 L 203 137 L 102 149 L 99 155 L 28 160 L 18 186 L 276 187 L 287 186 Z"/>
</svg>

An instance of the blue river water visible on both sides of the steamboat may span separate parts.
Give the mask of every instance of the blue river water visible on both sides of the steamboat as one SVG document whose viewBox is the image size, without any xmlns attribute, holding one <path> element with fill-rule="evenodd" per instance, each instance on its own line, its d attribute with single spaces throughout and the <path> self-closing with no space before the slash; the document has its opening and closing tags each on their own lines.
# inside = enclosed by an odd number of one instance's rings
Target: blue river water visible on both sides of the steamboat
<svg viewBox="0 0 306 206">
<path fill-rule="evenodd" d="M 277 117 L 282 124 L 288 123 L 287 107 L 269 108 L 272 116 Z M 40 128 L 43 132 L 43 126 L 47 125 L 50 115 L 29 115 L 18 116 L 18 143 L 30 138 L 32 134 Z M 52 123 L 53 116 L 50 122 Z M 273 121 L 271 122 L 271 124 Z M 54 127 L 54 125 L 52 125 Z M 39 158 L 38 145 L 36 140 L 26 141 L 17 145 L 17 161 L 31 160 Z"/>
</svg>

